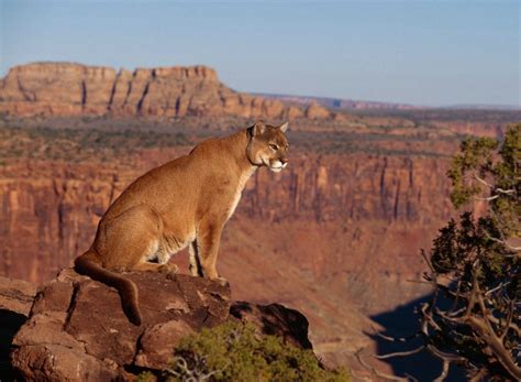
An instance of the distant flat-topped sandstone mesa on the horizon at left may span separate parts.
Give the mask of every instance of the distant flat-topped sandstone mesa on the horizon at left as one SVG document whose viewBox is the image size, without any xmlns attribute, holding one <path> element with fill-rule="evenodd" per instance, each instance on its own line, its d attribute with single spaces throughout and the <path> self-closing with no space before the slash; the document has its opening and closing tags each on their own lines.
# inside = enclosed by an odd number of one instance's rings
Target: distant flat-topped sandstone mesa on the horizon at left
<svg viewBox="0 0 521 382">
<path fill-rule="evenodd" d="M 333 113 L 237 92 L 207 66 L 115 70 L 69 63 L 15 66 L 0 80 L 0 112 L 11 116 L 239 116 L 329 119 Z"/>
</svg>

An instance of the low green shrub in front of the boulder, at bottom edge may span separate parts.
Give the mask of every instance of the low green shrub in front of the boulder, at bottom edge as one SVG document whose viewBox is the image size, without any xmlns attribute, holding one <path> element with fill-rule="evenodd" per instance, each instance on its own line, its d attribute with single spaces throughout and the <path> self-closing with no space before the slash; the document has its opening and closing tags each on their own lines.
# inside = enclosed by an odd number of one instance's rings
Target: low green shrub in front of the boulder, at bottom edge
<svg viewBox="0 0 521 382">
<path fill-rule="evenodd" d="M 226 323 L 182 339 L 163 381 L 351 381 L 324 370 L 311 350 L 259 337 L 252 325 Z"/>
</svg>

